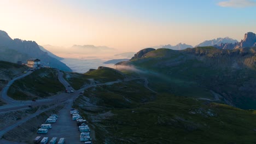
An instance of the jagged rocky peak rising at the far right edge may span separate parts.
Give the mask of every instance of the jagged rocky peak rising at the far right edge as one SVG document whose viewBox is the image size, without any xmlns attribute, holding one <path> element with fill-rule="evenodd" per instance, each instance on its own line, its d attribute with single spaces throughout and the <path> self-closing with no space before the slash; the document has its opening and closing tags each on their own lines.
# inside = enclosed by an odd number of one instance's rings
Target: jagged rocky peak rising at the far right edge
<svg viewBox="0 0 256 144">
<path fill-rule="evenodd" d="M 240 47 L 253 47 L 253 46 L 256 46 L 256 35 L 255 33 L 248 32 L 245 34 L 245 37 L 243 38 L 243 40 L 241 40 L 241 42 L 238 43 L 235 48 L 238 49 Z"/>
</svg>

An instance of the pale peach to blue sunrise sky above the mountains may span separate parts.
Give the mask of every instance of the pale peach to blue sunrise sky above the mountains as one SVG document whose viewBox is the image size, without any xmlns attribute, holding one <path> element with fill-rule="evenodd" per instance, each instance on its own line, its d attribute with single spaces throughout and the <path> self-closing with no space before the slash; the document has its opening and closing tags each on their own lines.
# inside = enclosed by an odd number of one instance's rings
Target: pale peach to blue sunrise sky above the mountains
<svg viewBox="0 0 256 144">
<path fill-rule="evenodd" d="M 1 0 L 0 29 L 39 45 L 156 45 L 256 32 L 256 0 Z"/>
</svg>

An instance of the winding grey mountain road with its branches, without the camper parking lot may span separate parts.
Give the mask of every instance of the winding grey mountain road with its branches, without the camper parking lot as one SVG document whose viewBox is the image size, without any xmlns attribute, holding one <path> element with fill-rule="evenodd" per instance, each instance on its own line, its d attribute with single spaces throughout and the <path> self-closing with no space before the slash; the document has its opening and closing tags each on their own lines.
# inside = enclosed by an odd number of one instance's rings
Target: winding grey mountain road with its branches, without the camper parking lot
<svg viewBox="0 0 256 144">
<path fill-rule="evenodd" d="M 7 92 L 8 92 L 9 86 L 12 85 L 15 80 L 21 79 L 31 73 L 32 73 L 32 71 L 30 71 L 27 74 L 24 74 L 22 76 L 16 77 L 15 79 L 8 82 L 8 85 L 3 88 L 0 98 L 5 103 L 7 103 L 7 105 L 0 106 L 0 112 L 8 112 L 8 111 L 24 109 L 25 107 L 28 107 L 30 105 L 32 105 L 32 106 L 49 105 L 49 104 L 52 104 L 52 105 L 50 107 L 48 107 L 47 109 L 38 110 L 37 112 L 33 113 L 32 115 L 30 115 L 28 117 L 21 119 L 20 121 L 16 122 L 15 124 L 7 125 L 7 127 L 0 129 L 0 137 L 2 137 L 8 131 L 18 127 L 18 125 L 23 124 L 23 123 L 27 122 L 29 119 L 40 115 L 40 113 L 42 113 L 42 112 L 53 109 L 56 106 L 65 104 L 66 105 L 65 107 L 71 107 L 73 105 L 73 101 L 76 98 L 78 98 L 80 93 L 83 92 L 85 89 L 88 89 L 90 87 L 100 86 L 100 85 L 113 85 L 114 83 L 121 82 L 121 80 L 117 80 L 117 81 L 98 83 L 98 84 L 91 83 L 90 85 L 85 85 L 83 88 L 80 88 L 79 90 L 74 91 L 74 89 L 69 85 L 69 83 L 63 78 L 63 73 L 60 70 L 58 70 L 59 81 L 62 83 L 63 86 L 65 86 L 66 89 L 68 89 L 68 91 L 73 90 L 74 93 L 61 93 L 61 94 L 51 96 L 47 99 L 40 99 L 37 101 L 19 101 L 19 100 L 14 100 L 14 99 L 8 97 Z M 131 81 L 131 80 L 135 80 L 135 79 L 129 79 L 129 80 L 124 80 L 124 81 Z M 146 78 L 144 78 L 144 81 L 145 81 L 144 87 L 146 87 L 147 89 L 149 89 L 152 92 L 155 92 L 148 87 L 148 80 Z M 64 117 L 66 117 L 66 115 Z M 68 116 L 68 117 L 70 118 L 70 116 Z M 1 140 L 0 140 L 0 143 L 1 143 Z"/>
</svg>

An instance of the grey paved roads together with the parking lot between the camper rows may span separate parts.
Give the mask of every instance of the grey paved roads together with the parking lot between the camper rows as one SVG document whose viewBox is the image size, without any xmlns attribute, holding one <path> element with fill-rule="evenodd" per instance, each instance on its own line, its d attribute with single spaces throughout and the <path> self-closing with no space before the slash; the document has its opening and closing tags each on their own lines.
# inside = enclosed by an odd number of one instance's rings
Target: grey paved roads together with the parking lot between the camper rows
<svg viewBox="0 0 256 144">
<path fill-rule="evenodd" d="M 8 125 L 7 127 L 3 128 L 0 130 L 0 137 L 2 137 L 5 133 L 7 133 L 9 130 L 12 130 L 16 127 L 18 127 L 18 125 L 25 123 L 26 121 L 28 121 L 29 119 L 40 115 L 40 113 L 44 112 L 44 111 L 48 111 L 50 109 L 53 109 L 55 106 L 63 104 L 68 102 L 68 104 L 66 105 L 65 109 L 62 109 L 59 112 L 59 116 L 60 119 L 58 119 L 58 122 L 56 122 L 55 124 L 53 124 L 53 129 L 49 131 L 49 137 L 66 137 L 67 139 L 67 143 L 82 143 L 79 141 L 79 131 L 77 128 L 77 125 L 75 122 L 72 121 L 71 117 L 69 116 L 69 110 L 71 109 L 71 106 L 73 105 L 73 101 L 79 97 L 80 92 L 83 92 L 85 89 L 90 88 L 90 87 L 94 87 L 94 86 L 98 86 L 98 85 L 113 85 L 113 83 L 117 83 L 120 82 L 120 80 L 117 81 L 113 81 L 113 82 L 106 82 L 106 83 L 99 83 L 99 84 L 91 84 L 91 85 L 87 85 L 81 89 L 79 89 L 78 91 L 74 91 L 74 93 L 61 93 L 58 95 L 54 95 L 53 97 L 49 97 L 48 99 L 42 99 L 42 100 L 37 100 L 36 102 L 33 101 L 18 101 L 18 100 L 14 100 L 8 97 L 7 95 L 7 91 L 9 86 L 18 79 L 21 79 L 22 77 L 25 77 L 30 73 L 27 73 L 25 75 L 16 77 L 15 79 L 13 79 L 12 81 L 10 81 L 8 83 L 8 86 L 4 88 L 4 91 L 2 91 L 1 94 L 1 98 L 4 99 L 8 105 L 5 106 L 0 106 L 0 112 L 1 111 L 13 111 L 13 110 L 19 110 L 19 109 L 23 109 L 24 107 L 27 107 L 28 105 L 33 105 L 33 106 L 39 106 L 39 105 L 45 105 L 45 104 L 54 104 L 51 107 L 48 107 L 47 109 L 44 110 L 39 110 L 36 113 L 34 113 L 31 116 L 28 116 L 24 119 L 21 119 L 20 121 L 18 121 L 15 124 L 12 125 Z M 71 86 L 69 86 L 69 83 L 63 79 L 63 74 L 61 71 L 58 70 L 58 74 L 59 74 L 59 81 L 63 84 L 63 86 L 66 87 L 66 89 L 69 90 L 74 90 Z M 129 80 L 126 80 L 129 81 Z M 145 81 L 145 85 L 147 86 L 147 81 Z M 55 127 L 55 129 L 54 129 Z M 0 141 L 1 142 L 1 141 Z"/>
</svg>

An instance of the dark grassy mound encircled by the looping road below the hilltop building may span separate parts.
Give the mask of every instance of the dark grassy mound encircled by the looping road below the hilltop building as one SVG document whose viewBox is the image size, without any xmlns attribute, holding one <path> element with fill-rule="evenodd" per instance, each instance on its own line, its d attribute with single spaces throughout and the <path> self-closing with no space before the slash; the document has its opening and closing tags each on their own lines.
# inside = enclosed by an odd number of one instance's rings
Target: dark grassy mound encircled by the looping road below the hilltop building
<svg viewBox="0 0 256 144">
<path fill-rule="evenodd" d="M 31 100 L 45 98 L 61 91 L 65 91 L 65 87 L 59 82 L 57 71 L 42 68 L 16 80 L 10 86 L 8 95 L 16 100 Z"/>
</svg>

